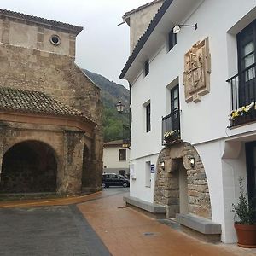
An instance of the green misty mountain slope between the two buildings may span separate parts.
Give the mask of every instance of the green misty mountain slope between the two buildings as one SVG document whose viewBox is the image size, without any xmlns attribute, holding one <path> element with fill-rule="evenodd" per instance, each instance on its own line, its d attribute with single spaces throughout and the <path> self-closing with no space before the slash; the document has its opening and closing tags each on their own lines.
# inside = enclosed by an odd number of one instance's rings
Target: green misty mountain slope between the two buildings
<svg viewBox="0 0 256 256">
<path fill-rule="evenodd" d="M 109 81 L 100 74 L 92 73 L 86 69 L 82 70 L 101 89 L 104 142 L 128 138 L 130 135 L 128 128 L 129 90 L 121 84 Z M 116 110 L 115 105 L 119 101 L 125 105 L 124 113 L 118 113 Z"/>
</svg>

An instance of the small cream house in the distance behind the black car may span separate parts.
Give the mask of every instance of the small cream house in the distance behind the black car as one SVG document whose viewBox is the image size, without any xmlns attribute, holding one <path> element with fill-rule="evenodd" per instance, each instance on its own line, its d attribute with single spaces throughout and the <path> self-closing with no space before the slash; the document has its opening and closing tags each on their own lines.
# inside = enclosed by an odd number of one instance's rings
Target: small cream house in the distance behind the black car
<svg viewBox="0 0 256 256">
<path fill-rule="evenodd" d="M 123 148 L 123 140 L 104 143 L 103 173 L 117 173 L 129 176 L 130 149 Z"/>
</svg>

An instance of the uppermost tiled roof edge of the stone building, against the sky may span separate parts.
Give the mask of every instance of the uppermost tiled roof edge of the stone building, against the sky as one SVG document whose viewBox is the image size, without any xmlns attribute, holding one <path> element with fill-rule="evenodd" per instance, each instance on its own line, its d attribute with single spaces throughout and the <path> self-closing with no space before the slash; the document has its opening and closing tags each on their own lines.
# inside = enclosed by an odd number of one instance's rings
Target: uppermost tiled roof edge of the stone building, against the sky
<svg viewBox="0 0 256 256">
<path fill-rule="evenodd" d="M 32 21 L 32 22 L 35 22 L 38 24 L 43 24 L 45 26 L 55 26 L 55 27 L 64 29 L 66 31 L 75 32 L 76 34 L 78 34 L 79 32 L 81 32 L 83 30 L 82 26 L 74 26 L 74 25 L 70 25 L 67 23 L 60 22 L 60 21 L 47 20 L 47 19 L 40 18 L 37 16 L 25 15 L 25 14 L 17 13 L 14 11 L 10 11 L 8 9 L 0 9 L 0 15 L 8 16 L 8 17 L 12 17 L 15 19 L 20 19 L 20 20 L 29 20 L 29 21 Z"/>
</svg>

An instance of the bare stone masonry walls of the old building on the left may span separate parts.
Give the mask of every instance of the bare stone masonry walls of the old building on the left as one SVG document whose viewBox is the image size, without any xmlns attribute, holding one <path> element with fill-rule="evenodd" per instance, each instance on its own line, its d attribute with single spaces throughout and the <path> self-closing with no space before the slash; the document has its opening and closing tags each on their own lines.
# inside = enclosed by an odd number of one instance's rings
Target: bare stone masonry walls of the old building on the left
<svg viewBox="0 0 256 256">
<path fill-rule="evenodd" d="M 7 113 L 1 113 L 0 109 L 0 121 L 8 131 L 0 134 L 0 167 L 4 154 L 15 143 L 45 143 L 55 152 L 56 191 L 67 195 L 80 193 L 81 187 L 87 191 L 102 189 L 100 89 L 74 63 L 76 35 L 81 29 L 79 26 L 1 10 L 0 86 L 44 92 L 79 110 L 90 121 L 84 123 L 86 129 L 83 130 L 70 119 L 65 123 L 63 117 L 54 117 L 55 121 L 61 119 L 54 123 L 53 117 L 46 117 L 44 113 L 42 124 L 38 122 L 40 114 L 26 116 L 26 111 L 12 113 L 7 119 Z M 24 37 L 24 34 L 29 36 Z M 61 44 L 50 42 L 53 35 L 60 38 Z M 12 117 L 15 119 L 12 120 Z M 84 154 L 85 151 L 87 154 Z"/>
</svg>

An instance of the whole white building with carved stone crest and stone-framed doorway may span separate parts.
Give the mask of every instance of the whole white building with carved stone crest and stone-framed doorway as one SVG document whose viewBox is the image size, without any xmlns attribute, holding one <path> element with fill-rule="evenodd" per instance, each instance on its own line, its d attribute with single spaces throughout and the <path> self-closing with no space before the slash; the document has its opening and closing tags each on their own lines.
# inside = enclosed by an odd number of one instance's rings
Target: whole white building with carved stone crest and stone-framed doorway
<svg viewBox="0 0 256 256">
<path fill-rule="evenodd" d="M 190 26 L 174 34 L 178 24 Z M 254 0 L 166 0 L 120 75 L 131 84 L 130 195 L 165 204 L 169 217 L 212 219 L 224 242 L 236 241 L 238 177 L 249 197 L 256 190 L 255 57 Z M 165 148 L 174 130 L 180 140 Z"/>
</svg>

